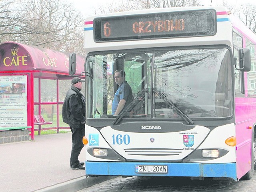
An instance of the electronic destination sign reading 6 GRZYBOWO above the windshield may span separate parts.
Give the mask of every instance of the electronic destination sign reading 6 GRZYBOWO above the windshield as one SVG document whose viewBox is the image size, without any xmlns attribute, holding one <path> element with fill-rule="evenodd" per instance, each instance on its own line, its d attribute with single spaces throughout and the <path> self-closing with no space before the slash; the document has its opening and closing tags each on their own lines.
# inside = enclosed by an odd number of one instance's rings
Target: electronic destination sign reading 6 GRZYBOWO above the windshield
<svg viewBox="0 0 256 192">
<path fill-rule="evenodd" d="M 215 10 L 190 10 L 129 16 L 102 17 L 93 21 L 96 42 L 213 36 Z"/>
</svg>

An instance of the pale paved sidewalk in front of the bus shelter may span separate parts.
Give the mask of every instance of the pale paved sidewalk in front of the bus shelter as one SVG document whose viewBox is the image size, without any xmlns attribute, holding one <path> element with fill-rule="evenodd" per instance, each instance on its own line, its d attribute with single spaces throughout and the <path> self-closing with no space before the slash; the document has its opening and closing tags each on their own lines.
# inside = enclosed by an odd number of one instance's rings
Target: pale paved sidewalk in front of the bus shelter
<svg viewBox="0 0 256 192">
<path fill-rule="evenodd" d="M 32 192 L 93 179 L 85 178 L 84 170 L 70 168 L 71 136 L 49 134 L 35 136 L 34 141 L 0 144 L 0 192 Z M 85 160 L 84 149 L 79 160 Z"/>
</svg>

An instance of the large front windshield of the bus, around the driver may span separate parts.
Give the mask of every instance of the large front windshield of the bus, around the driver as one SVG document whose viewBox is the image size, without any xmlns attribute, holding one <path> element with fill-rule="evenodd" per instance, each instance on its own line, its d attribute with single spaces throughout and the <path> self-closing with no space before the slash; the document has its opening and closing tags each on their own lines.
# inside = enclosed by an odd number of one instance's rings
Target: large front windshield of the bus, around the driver
<svg viewBox="0 0 256 192">
<path fill-rule="evenodd" d="M 233 114 L 232 56 L 227 48 L 122 50 L 86 59 L 87 118 L 115 118 L 112 102 L 124 70 L 132 102 L 124 118 L 220 118 Z M 180 115 L 180 111 L 183 115 Z M 182 117 L 183 116 L 183 117 Z"/>
</svg>

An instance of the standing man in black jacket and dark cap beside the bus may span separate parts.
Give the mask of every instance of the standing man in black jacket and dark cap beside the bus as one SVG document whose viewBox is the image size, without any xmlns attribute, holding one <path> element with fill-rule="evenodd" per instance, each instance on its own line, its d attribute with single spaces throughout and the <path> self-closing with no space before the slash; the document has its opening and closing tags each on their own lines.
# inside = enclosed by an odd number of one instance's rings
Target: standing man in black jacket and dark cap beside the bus
<svg viewBox="0 0 256 192">
<path fill-rule="evenodd" d="M 70 126 L 72 132 L 72 150 L 70 156 L 70 168 L 73 170 L 85 170 L 83 162 L 79 162 L 78 156 L 84 147 L 82 138 L 85 126 L 85 98 L 80 92 L 84 80 L 74 77 L 71 88 L 66 94 L 62 107 L 63 122 Z"/>
</svg>

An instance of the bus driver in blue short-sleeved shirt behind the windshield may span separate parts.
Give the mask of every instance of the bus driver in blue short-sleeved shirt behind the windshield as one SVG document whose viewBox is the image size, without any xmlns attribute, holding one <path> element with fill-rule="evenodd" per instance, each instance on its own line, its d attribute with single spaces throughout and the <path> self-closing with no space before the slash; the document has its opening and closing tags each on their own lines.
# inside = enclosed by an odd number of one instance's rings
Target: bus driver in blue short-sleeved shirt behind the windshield
<svg viewBox="0 0 256 192">
<path fill-rule="evenodd" d="M 125 80 L 125 72 L 123 70 L 116 70 L 114 78 L 118 89 L 115 93 L 112 103 L 112 115 L 117 116 L 128 104 L 133 100 L 132 88 Z"/>
</svg>

